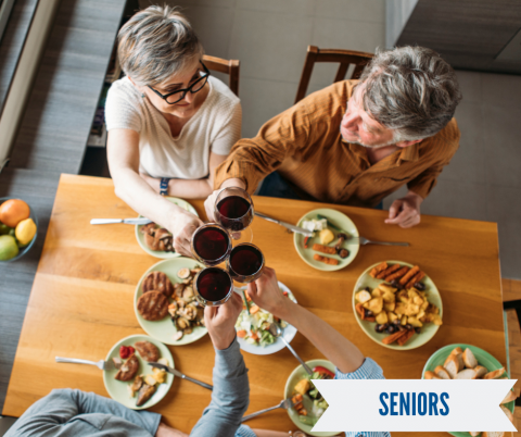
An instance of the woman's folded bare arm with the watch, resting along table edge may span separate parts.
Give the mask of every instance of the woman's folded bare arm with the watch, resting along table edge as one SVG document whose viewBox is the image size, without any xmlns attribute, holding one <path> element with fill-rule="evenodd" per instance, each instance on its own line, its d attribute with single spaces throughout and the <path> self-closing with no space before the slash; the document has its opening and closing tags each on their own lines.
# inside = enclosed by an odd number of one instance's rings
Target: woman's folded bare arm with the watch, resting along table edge
<svg viewBox="0 0 521 437">
<path fill-rule="evenodd" d="M 183 199 L 207 198 L 214 186 L 215 168 L 226 160 L 227 155 L 209 153 L 209 177 L 204 179 L 170 179 L 168 182 L 168 196 L 182 197 Z M 152 187 L 155 192 L 161 191 L 161 178 L 140 173 L 140 176 Z"/>
</svg>

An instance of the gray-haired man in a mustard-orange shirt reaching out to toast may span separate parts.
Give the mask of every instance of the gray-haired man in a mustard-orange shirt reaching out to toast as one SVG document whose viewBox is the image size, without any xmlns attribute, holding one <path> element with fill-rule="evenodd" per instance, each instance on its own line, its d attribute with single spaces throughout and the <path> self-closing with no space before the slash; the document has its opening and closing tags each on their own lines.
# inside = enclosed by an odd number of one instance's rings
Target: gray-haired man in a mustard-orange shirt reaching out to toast
<svg viewBox="0 0 521 437">
<path fill-rule="evenodd" d="M 411 227 L 420 204 L 458 149 L 453 118 L 461 93 L 437 53 L 402 47 L 376 54 L 360 80 L 312 93 L 238 141 L 216 170 L 220 188 L 373 208 L 407 184 L 385 223 Z"/>
</svg>

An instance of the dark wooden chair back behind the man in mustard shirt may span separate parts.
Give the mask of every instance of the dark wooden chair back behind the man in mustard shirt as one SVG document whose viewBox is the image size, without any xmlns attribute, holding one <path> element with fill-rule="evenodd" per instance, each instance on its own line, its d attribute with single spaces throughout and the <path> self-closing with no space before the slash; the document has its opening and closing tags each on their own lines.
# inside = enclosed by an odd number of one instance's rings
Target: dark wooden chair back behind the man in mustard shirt
<svg viewBox="0 0 521 437">
<path fill-rule="evenodd" d="M 340 66 L 336 71 L 333 84 L 344 80 L 347 68 L 351 64 L 355 65 L 355 70 L 350 79 L 358 79 L 366 64 L 372 59 L 373 54 L 354 50 L 335 50 L 319 49 L 316 46 L 307 46 L 306 62 L 302 71 L 301 82 L 296 91 L 295 103 L 298 103 L 306 96 L 307 86 L 312 78 L 315 62 L 339 62 Z"/>
</svg>

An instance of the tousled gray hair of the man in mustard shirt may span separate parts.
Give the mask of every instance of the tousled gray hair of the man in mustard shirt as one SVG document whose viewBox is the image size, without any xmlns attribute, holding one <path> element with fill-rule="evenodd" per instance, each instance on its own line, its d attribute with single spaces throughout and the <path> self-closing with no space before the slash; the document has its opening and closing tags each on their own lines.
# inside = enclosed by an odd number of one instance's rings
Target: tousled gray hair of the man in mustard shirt
<svg viewBox="0 0 521 437">
<path fill-rule="evenodd" d="M 435 135 L 453 118 L 461 100 L 453 67 L 424 47 L 377 52 L 364 70 L 364 109 L 395 130 L 395 140 Z"/>
</svg>

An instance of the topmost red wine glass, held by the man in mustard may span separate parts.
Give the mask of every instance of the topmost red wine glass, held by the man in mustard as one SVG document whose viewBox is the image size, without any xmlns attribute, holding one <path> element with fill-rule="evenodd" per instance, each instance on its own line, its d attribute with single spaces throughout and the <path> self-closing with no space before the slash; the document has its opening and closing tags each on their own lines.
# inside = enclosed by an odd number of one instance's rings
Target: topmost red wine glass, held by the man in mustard
<svg viewBox="0 0 521 437">
<path fill-rule="evenodd" d="M 223 189 L 215 200 L 215 221 L 226 228 L 233 239 L 233 246 L 252 242 L 253 201 L 246 190 L 239 187 Z"/>
</svg>

